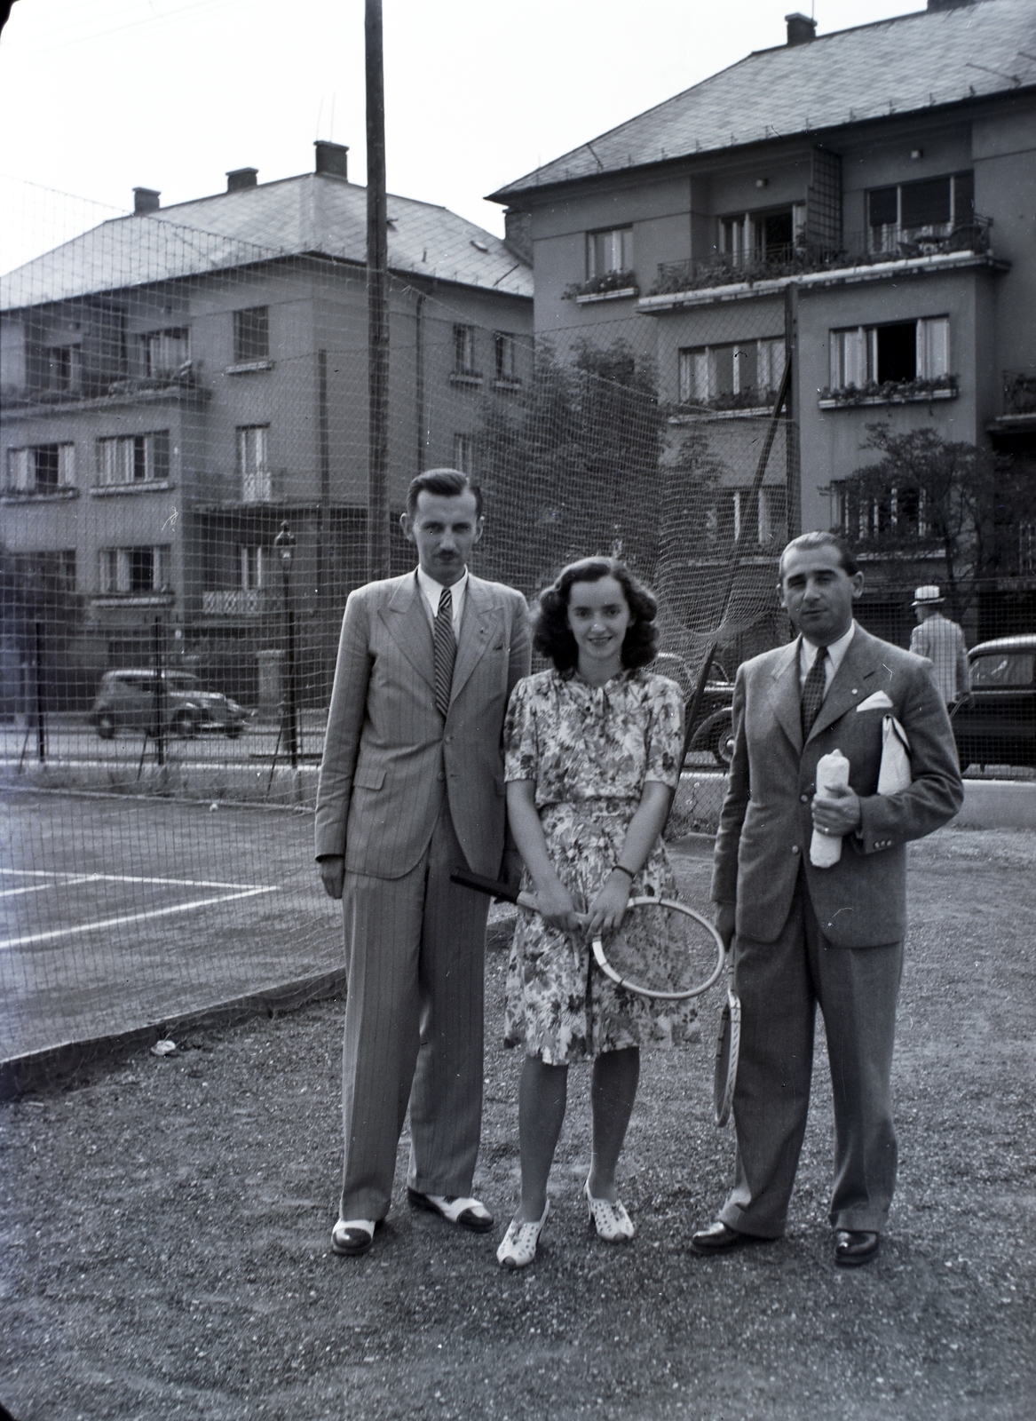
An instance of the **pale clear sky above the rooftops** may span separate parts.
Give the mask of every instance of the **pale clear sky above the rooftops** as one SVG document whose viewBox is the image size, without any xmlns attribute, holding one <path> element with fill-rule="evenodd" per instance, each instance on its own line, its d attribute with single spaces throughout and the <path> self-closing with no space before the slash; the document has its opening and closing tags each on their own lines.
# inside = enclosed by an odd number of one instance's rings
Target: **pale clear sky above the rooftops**
<svg viewBox="0 0 1036 1421">
<path fill-rule="evenodd" d="M 794 0 L 384 0 L 389 192 L 503 233 L 485 195 L 786 41 Z M 817 33 L 924 0 L 800 0 Z M 0 37 L 0 271 L 132 207 L 270 182 L 350 146 L 364 0 L 16 0 Z"/>
</svg>

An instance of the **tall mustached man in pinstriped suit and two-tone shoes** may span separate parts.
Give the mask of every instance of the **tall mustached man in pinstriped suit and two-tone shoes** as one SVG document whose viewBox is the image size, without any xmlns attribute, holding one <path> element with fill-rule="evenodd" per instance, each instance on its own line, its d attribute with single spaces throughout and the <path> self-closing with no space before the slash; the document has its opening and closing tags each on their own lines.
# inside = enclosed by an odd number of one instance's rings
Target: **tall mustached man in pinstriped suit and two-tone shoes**
<svg viewBox="0 0 1036 1421">
<path fill-rule="evenodd" d="M 418 475 L 402 530 L 418 568 L 345 604 L 317 790 L 324 888 L 345 921 L 345 1167 L 335 1253 L 365 1253 L 388 1214 L 411 1113 L 408 1196 L 486 1231 L 470 1198 L 482 1128 L 489 899 L 453 868 L 517 881 L 504 854 L 500 735 L 529 674 L 529 612 L 468 571 L 482 495 L 453 469 Z"/>
</svg>

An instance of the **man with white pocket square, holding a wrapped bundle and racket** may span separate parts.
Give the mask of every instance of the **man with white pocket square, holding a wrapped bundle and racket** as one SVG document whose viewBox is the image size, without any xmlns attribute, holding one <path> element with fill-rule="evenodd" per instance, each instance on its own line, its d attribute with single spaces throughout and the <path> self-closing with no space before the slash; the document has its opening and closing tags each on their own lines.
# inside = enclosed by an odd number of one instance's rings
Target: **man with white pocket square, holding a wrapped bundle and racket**
<svg viewBox="0 0 1036 1421">
<path fill-rule="evenodd" d="M 964 790 L 931 666 L 853 620 L 863 574 L 841 539 L 793 539 L 779 591 L 800 635 L 738 671 L 712 877 L 742 1000 L 735 1182 L 692 1248 L 722 1253 L 784 1232 L 819 1003 L 834 1094 L 834 1260 L 854 1268 L 877 1256 L 895 1187 L 905 845 L 945 824 Z M 878 794 L 887 715 L 907 732 L 912 783 Z M 817 762 L 834 749 L 848 759 L 848 787 L 817 793 Z M 810 861 L 814 828 L 841 838 L 833 867 Z"/>
</svg>

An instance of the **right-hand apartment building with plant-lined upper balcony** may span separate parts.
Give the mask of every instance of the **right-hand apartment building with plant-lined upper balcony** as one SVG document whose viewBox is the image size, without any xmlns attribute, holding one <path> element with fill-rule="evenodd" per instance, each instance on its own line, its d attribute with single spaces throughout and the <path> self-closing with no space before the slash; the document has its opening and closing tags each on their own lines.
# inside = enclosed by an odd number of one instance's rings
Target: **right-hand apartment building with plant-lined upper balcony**
<svg viewBox="0 0 1036 1421">
<path fill-rule="evenodd" d="M 1036 459 L 1036 9 L 929 0 L 826 36 L 786 18 L 786 44 L 492 195 L 527 234 L 537 337 L 621 337 L 674 423 L 762 441 L 793 351 L 799 450 L 767 473 L 784 489 L 760 547 L 776 523 L 860 531 L 844 477 L 875 422 Z M 745 495 L 743 472 L 718 495 L 730 530 Z M 1003 573 L 1036 618 L 1032 543 Z M 901 588 L 938 581 L 924 520 L 915 554 L 873 556 L 894 635 Z"/>
</svg>

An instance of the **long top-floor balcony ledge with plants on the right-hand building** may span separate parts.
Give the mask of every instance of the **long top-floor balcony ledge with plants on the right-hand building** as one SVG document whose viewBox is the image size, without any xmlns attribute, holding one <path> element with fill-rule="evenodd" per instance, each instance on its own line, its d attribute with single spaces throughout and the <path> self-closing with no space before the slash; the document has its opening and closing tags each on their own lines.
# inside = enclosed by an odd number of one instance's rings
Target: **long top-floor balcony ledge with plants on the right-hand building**
<svg viewBox="0 0 1036 1421">
<path fill-rule="evenodd" d="M 651 296 L 675 291 L 699 291 L 739 281 L 769 281 L 811 271 L 836 271 L 853 266 L 880 266 L 910 257 L 934 257 L 949 253 L 989 252 L 992 217 L 975 216 L 968 222 L 938 223 L 928 227 L 867 227 L 850 233 L 838 247 L 813 243 L 770 246 L 745 256 L 725 254 L 709 261 L 659 261 L 658 280 Z"/>
</svg>

